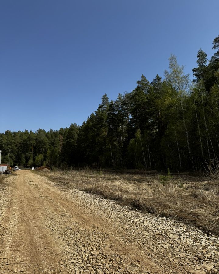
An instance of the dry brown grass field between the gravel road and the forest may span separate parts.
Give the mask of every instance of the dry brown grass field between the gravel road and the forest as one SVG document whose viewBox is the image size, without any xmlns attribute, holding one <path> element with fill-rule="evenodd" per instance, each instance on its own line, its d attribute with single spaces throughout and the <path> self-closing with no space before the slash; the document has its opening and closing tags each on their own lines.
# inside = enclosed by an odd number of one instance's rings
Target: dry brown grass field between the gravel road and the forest
<svg viewBox="0 0 219 274">
<path fill-rule="evenodd" d="M 192 176 L 112 174 L 98 171 L 53 171 L 43 174 L 69 188 L 78 188 L 103 198 L 158 216 L 174 217 L 219 234 L 219 186 L 215 181 Z"/>
</svg>

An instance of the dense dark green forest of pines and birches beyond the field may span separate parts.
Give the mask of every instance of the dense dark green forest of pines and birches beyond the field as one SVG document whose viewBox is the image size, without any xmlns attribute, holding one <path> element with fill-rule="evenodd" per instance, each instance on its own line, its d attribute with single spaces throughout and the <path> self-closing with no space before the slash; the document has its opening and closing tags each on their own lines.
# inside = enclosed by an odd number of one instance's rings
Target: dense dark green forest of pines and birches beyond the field
<svg viewBox="0 0 219 274">
<path fill-rule="evenodd" d="M 0 134 L 2 162 L 36 167 L 97 167 L 201 170 L 219 156 L 219 36 L 210 60 L 199 49 L 194 79 L 176 56 L 165 79 L 150 83 L 144 75 L 136 88 L 103 95 L 98 109 L 81 126 Z"/>
</svg>

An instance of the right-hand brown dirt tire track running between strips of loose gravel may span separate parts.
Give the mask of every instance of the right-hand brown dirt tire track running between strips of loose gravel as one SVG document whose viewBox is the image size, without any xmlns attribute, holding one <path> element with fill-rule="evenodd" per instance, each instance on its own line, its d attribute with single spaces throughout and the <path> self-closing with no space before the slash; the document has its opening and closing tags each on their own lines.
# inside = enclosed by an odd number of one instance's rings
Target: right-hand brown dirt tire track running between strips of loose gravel
<svg viewBox="0 0 219 274">
<path fill-rule="evenodd" d="M 34 181 L 34 179 L 36 180 L 36 177 L 39 176 L 30 174 L 29 180 Z M 98 217 L 93 216 L 91 211 L 87 211 L 87 209 L 82 208 L 81 205 L 77 203 L 78 201 L 73 201 L 73 199 L 69 200 L 66 197 L 66 193 L 47 184 L 47 181 L 43 179 L 43 177 L 40 176 L 39 180 L 40 181 L 38 184 L 34 185 L 36 188 L 35 191 L 38 191 L 40 195 L 41 189 L 43 189 L 43 195 L 44 197 L 47 197 L 46 199 L 43 199 L 43 206 L 50 209 L 50 216 L 54 213 L 57 217 L 62 216 L 62 222 L 59 222 L 58 225 L 59 229 L 61 228 L 63 230 L 68 230 L 68 233 L 72 233 L 72 224 L 74 224 L 75 227 L 83 227 L 86 229 L 86 233 L 91 231 L 92 234 L 100 234 L 99 237 L 104 235 L 104 237 L 100 239 L 101 242 L 104 242 L 104 249 L 101 250 L 103 253 L 108 252 L 111 254 L 123 255 L 123 260 L 125 261 L 136 261 L 139 270 L 142 268 L 150 269 L 153 267 L 153 273 L 160 273 L 160 271 L 156 269 L 157 267 L 150 262 L 149 258 L 146 257 L 145 251 L 141 250 L 140 252 L 139 249 L 136 248 L 136 242 L 134 245 L 124 243 L 124 238 L 127 238 L 130 235 L 123 234 L 121 236 L 116 234 L 115 226 L 112 225 L 112 222 L 109 223 L 109 221 L 103 217 L 101 220 L 98 220 Z M 117 227 L 117 230 L 118 229 L 119 228 Z M 149 267 L 147 267 L 148 265 Z"/>
</svg>

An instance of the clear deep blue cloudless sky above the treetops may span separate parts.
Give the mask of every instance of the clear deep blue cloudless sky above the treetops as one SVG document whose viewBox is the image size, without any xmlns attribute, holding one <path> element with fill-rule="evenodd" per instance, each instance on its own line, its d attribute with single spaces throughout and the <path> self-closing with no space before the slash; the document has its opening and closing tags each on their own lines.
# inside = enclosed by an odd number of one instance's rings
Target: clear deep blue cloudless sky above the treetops
<svg viewBox="0 0 219 274">
<path fill-rule="evenodd" d="M 171 53 L 192 77 L 218 14 L 218 0 L 1 0 L 0 132 L 81 125 L 104 93 L 163 77 Z"/>
</svg>

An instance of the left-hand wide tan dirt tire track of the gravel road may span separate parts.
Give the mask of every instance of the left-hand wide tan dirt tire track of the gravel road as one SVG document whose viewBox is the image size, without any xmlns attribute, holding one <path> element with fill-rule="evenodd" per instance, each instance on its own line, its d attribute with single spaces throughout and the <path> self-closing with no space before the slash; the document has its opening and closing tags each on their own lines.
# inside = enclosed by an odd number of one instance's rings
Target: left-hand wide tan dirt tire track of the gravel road
<svg viewBox="0 0 219 274">
<path fill-rule="evenodd" d="M 58 268 L 57 255 L 61 245 L 54 244 L 53 237 L 46 233 L 41 221 L 44 213 L 40 201 L 25 183 L 24 176 L 24 173 L 16 176 L 11 203 L 1 225 L 7 235 L 2 241 L 5 250 L 1 257 L 6 258 L 2 272 L 36 273 L 45 268 L 53 271 Z"/>
</svg>

